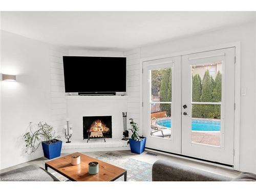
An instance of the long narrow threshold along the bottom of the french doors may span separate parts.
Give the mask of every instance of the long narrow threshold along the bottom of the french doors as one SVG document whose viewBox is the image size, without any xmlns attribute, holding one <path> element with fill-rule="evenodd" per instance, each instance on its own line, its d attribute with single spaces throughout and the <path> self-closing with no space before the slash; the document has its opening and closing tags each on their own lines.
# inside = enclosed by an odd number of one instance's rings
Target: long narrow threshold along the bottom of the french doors
<svg viewBox="0 0 256 192">
<path fill-rule="evenodd" d="M 161 150 L 155 150 L 154 148 L 149 148 L 149 147 L 145 147 L 145 148 L 148 151 L 158 152 L 158 153 L 164 154 L 164 155 L 174 156 L 174 157 L 178 157 L 178 158 L 182 158 L 182 159 L 187 159 L 187 160 L 191 160 L 191 161 L 197 161 L 197 162 L 201 162 L 201 163 L 205 163 L 205 164 L 210 164 L 210 165 L 216 165 L 216 166 L 220 166 L 220 167 L 224 167 L 224 168 L 228 168 L 228 169 L 234 169 L 233 165 L 229 165 L 229 164 L 225 164 L 225 163 L 209 161 L 209 160 L 205 160 L 205 159 L 200 159 L 200 158 L 196 158 L 196 157 L 190 157 L 190 156 L 176 154 L 176 153 L 172 153 L 172 152 L 165 152 L 165 151 L 161 151 Z"/>
</svg>

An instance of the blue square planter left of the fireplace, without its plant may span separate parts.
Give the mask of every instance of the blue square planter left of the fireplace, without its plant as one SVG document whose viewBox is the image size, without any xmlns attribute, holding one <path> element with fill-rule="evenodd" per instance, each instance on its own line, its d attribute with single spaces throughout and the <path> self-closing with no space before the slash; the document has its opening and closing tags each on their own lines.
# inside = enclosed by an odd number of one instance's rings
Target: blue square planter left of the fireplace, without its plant
<svg viewBox="0 0 256 192">
<path fill-rule="evenodd" d="M 42 141 L 42 150 L 44 151 L 44 155 L 47 159 L 53 159 L 60 156 L 62 141 L 57 141 L 58 142 L 52 144 L 47 144 L 45 141 Z"/>
</svg>

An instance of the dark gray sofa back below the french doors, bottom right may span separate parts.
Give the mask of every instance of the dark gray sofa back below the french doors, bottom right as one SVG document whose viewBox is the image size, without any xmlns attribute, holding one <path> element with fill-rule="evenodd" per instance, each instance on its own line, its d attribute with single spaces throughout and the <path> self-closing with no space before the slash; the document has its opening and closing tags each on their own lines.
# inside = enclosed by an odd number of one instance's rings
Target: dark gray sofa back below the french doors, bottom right
<svg viewBox="0 0 256 192">
<path fill-rule="evenodd" d="M 241 173 L 233 179 L 182 164 L 157 160 L 152 167 L 152 181 L 256 181 L 256 175 Z"/>
</svg>

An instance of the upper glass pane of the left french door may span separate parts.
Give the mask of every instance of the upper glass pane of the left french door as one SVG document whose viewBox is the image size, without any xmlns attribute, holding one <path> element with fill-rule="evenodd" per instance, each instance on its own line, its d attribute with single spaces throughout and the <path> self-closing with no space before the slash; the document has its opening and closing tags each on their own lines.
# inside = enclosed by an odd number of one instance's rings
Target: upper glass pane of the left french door
<svg viewBox="0 0 256 192">
<path fill-rule="evenodd" d="M 151 101 L 172 101 L 172 68 L 151 70 Z"/>
</svg>

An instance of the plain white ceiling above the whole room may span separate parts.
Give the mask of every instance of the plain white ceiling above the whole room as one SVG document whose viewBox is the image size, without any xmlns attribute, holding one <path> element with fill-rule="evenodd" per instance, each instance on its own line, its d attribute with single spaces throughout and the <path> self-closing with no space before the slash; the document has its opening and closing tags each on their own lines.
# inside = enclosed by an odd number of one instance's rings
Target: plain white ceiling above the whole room
<svg viewBox="0 0 256 192">
<path fill-rule="evenodd" d="M 70 49 L 129 50 L 255 19 L 255 12 L 1 12 L 1 29 Z"/>
</svg>

